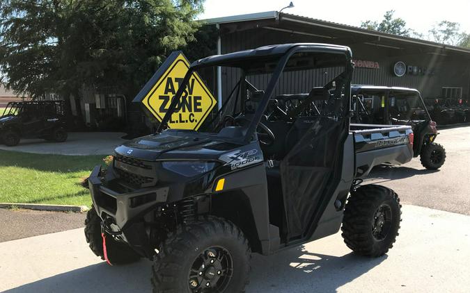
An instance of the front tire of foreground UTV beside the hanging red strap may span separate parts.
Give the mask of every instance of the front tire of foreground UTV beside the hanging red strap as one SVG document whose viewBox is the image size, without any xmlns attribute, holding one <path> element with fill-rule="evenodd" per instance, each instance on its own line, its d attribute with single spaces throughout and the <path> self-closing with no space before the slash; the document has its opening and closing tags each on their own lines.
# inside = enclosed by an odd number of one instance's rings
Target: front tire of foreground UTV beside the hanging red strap
<svg viewBox="0 0 470 293">
<path fill-rule="evenodd" d="M 90 246 L 91 251 L 104 260 L 103 239 L 101 236 L 101 219 L 93 208 L 88 210 L 85 219 L 85 237 L 86 243 Z M 106 251 L 109 262 L 113 265 L 125 265 L 127 263 L 136 262 L 141 257 L 127 244 L 113 240 L 113 237 L 106 237 Z"/>
</svg>

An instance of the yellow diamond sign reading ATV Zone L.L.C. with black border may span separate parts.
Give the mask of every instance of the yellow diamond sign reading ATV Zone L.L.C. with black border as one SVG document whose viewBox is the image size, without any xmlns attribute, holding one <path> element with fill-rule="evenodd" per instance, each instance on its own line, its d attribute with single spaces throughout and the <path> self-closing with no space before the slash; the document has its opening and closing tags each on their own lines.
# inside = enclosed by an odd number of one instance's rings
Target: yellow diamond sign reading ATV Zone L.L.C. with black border
<svg viewBox="0 0 470 293">
<path fill-rule="evenodd" d="M 134 102 L 142 103 L 159 122 L 162 122 L 188 69 L 189 62 L 182 52 L 171 53 L 137 94 Z M 201 76 L 194 72 L 171 115 L 169 128 L 198 130 L 216 103 Z"/>
</svg>

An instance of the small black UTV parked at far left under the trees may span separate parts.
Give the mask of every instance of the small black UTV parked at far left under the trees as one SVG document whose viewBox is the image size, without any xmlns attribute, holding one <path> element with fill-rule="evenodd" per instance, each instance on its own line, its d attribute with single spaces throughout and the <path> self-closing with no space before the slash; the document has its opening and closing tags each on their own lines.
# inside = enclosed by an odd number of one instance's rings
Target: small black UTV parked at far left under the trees
<svg viewBox="0 0 470 293">
<path fill-rule="evenodd" d="M 0 142 L 8 147 L 22 138 L 65 142 L 67 136 L 63 101 L 10 102 L 0 116 Z"/>
</svg>

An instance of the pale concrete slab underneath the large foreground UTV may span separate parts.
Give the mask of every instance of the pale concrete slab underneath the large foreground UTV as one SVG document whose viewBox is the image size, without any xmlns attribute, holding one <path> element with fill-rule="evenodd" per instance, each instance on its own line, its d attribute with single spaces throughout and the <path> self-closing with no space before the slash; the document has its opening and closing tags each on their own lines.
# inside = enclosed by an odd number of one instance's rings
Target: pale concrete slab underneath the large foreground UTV
<svg viewBox="0 0 470 293">
<path fill-rule="evenodd" d="M 382 258 L 362 258 L 340 234 L 273 256 L 254 255 L 246 292 L 470 292 L 470 217 L 405 206 Z M 150 292 L 150 265 L 109 267 L 83 229 L 0 243 L 0 291 Z"/>
</svg>

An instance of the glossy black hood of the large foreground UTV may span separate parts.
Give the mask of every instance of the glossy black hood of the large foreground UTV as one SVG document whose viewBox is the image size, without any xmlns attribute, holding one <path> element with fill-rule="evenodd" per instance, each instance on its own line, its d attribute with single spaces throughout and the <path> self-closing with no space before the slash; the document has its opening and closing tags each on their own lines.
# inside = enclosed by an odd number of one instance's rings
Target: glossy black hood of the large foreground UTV
<svg viewBox="0 0 470 293">
<path fill-rule="evenodd" d="M 116 148 L 120 155 L 139 160 L 217 160 L 222 153 L 240 147 L 193 132 L 164 132 L 139 137 Z"/>
</svg>

